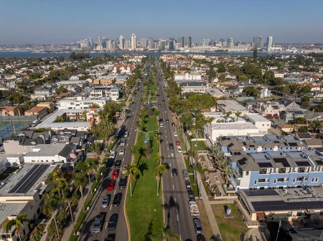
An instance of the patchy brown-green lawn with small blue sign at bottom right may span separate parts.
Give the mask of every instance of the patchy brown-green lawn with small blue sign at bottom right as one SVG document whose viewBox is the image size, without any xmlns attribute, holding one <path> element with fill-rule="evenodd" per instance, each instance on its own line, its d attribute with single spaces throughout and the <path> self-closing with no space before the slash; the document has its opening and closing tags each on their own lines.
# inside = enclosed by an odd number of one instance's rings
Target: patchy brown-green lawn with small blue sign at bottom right
<svg viewBox="0 0 323 241">
<path fill-rule="evenodd" d="M 231 209 L 234 218 L 224 218 L 225 206 Z M 240 234 L 248 231 L 246 224 L 240 216 L 237 207 L 232 204 L 211 205 L 214 216 L 217 219 L 223 241 L 240 240 Z"/>
</svg>

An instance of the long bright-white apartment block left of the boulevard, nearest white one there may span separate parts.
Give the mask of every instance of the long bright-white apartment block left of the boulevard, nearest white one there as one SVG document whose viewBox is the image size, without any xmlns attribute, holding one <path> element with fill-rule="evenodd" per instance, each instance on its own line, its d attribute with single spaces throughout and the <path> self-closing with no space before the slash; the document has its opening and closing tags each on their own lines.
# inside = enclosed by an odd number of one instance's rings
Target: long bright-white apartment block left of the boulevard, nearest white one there
<svg viewBox="0 0 323 241">
<path fill-rule="evenodd" d="M 58 102 L 58 109 L 88 109 L 93 104 L 97 104 L 100 108 L 109 101 L 106 97 L 66 97 Z"/>
</svg>

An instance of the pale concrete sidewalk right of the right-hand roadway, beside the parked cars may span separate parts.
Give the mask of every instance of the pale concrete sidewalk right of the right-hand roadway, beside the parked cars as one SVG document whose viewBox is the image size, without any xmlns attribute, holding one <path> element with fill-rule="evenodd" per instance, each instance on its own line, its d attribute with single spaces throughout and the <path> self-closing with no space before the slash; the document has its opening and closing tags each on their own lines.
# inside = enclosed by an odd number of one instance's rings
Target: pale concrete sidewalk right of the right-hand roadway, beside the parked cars
<svg viewBox="0 0 323 241">
<path fill-rule="evenodd" d="M 183 136 L 183 138 L 185 138 L 186 143 L 189 143 L 184 131 L 182 132 L 182 136 Z M 188 149 L 190 149 L 190 148 L 188 148 Z M 193 157 L 192 157 L 192 163 L 195 164 L 195 160 L 194 160 Z M 197 180 L 201 180 L 200 175 L 198 173 L 196 173 L 196 178 L 197 178 Z M 200 189 L 200 195 L 202 196 L 204 207 L 205 207 L 205 210 L 206 210 L 206 213 L 207 213 L 208 221 L 209 221 L 211 229 L 212 229 L 214 240 L 221 241 L 222 236 L 221 236 L 221 233 L 220 233 L 220 229 L 219 229 L 216 217 L 214 217 L 213 210 L 212 210 L 212 207 L 211 207 L 211 203 L 208 200 L 207 193 L 205 191 L 204 185 L 200 185 L 199 189 Z"/>
</svg>

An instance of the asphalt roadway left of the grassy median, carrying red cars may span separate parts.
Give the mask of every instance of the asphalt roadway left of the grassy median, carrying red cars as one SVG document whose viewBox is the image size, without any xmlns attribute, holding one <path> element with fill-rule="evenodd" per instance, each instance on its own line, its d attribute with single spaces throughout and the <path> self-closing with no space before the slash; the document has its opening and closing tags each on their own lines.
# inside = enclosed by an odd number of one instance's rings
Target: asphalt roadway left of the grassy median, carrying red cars
<svg viewBox="0 0 323 241">
<path fill-rule="evenodd" d="M 105 237 L 107 237 L 109 234 L 115 235 L 115 241 L 125 241 L 128 240 L 128 229 L 126 225 L 126 219 L 124 215 L 124 200 L 125 200 L 125 195 L 126 195 L 126 189 L 119 189 L 118 184 L 119 180 L 122 177 L 122 168 L 124 165 L 129 165 L 131 162 L 131 156 L 132 153 L 130 151 L 130 146 L 135 143 L 136 140 L 136 121 L 138 120 L 138 113 L 140 112 L 141 109 L 141 102 L 140 99 L 142 97 L 142 83 L 141 82 L 139 86 L 139 91 L 137 92 L 137 96 L 134 99 L 134 104 L 131 104 L 129 107 L 130 113 L 128 113 L 126 120 L 124 122 L 124 125 L 126 126 L 125 131 L 129 131 L 128 137 L 126 137 L 126 144 L 125 146 L 120 146 L 120 140 L 119 138 L 117 140 L 117 143 L 115 145 L 115 151 L 117 151 L 117 155 L 115 160 L 121 159 L 121 167 L 118 179 L 116 179 L 116 185 L 113 191 L 108 191 L 107 184 L 109 183 L 110 180 L 112 180 L 112 172 L 115 169 L 114 166 L 112 168 L 106 169 L 105 173 L 103 174 L 104 176 L 104 181 L 99 188 L 98 192 L 99 195 L 97 196 L 96 200 L 94 201 L 94 208 L 91 210 L 91 213 L 85 223 L 85 226 L 83 228 L 83 231 L 81 233 L 81 238 L 79 240 L 86 240 L 86 241 L 93 241 L 93 240 L 104 240 Z M 120 148 L 125 148 L 125 154 L 124 155 L 119 155 L 119 150 Z M 119 206 L 112 206 L 112 202 L 114 199 L 115 194 L 121 192 L 122 193 L 122 200 Z M 109 203 L 109 206 L 107 208 L 101 208 L 101 202 L 102 199 L 105 195 L 111 194 L 111 200 Z M 97 214 L 100 214 L 100 212 L 105 212 L 105 220 L 102 225 L 102 229 L 98 233 L 93 233 L 92 232 L 92 227 L 93 227 L 93 222 Z M 107 223 L 109 222 L 109 219 L 112 214 L 117 213 L 118 214 L 118 222 L 116 229 L 113 231 L 107 230 Z"/>
</svg>

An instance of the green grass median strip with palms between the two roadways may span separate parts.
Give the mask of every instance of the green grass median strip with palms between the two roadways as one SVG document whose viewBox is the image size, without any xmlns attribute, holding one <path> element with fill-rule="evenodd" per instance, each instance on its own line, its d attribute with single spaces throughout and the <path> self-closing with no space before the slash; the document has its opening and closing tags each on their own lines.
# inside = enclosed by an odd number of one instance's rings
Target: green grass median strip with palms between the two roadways
<svg viewBox="0 0 323 241">
<path fill-rule="evenodd" d="M 146 118 L 145 131 L 157 129 L 157 118 L 155 115 Z M 158 145 L 150 134 L 152 142 L 152 156 L 157 153 Z M 138 133 L 138 147 L 144 147 L 144 134 Z M 133 197 L 130 196 L 130 188 L 127 196 L 127 215 L 131 230 L 131 240 L 142 241 L 148 232 L 149 223 L 152 230 L 157 231 L 163 227 L 163 206 L 161 204 L 161 188 L 157 196 L 157 182 L 153 176 L 156 163 L 152 157 L 144 158 L 136 155 L 137 167 L 142 171 L 137 181 L 132 183 Z M 129 185 L 130 187 L 130 185 Z"/>
</svg>

